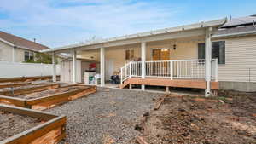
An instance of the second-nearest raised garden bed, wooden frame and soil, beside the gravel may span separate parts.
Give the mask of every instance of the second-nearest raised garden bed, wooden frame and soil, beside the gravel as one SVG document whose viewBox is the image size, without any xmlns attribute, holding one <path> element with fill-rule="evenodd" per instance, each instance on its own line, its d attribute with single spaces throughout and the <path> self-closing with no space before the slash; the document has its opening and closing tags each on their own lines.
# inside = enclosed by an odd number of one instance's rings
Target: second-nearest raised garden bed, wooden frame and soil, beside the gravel
<svg viewBox="0 0 256 144">
<path fill-rule="evenodd" d="M 0 102 L 18 107 L 44 110 L 95 92 L 96 86 L 68 85 L 28 95 L 0 96 Z"/>
</svg>

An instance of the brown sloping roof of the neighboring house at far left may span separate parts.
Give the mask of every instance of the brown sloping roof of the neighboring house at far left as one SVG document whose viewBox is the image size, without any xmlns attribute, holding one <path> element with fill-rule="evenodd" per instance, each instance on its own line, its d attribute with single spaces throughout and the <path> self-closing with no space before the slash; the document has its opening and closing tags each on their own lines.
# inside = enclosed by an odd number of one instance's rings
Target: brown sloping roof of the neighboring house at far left
<svg viewBox="0 0 256 144">
<path fill-rule="evenodd" d="M 49 49 L 48 47 L 39 44 L 39 43 L 34 43 L 32 41 L 26 40 L 22 37 L 17 37 L 15 35 L 2 32 L 0 31 L 0 41 L 3 41 L 5 43 L 9 43 L 15 47 L 18 47 L 20 49 L 28 49 L 32 51 L 40 51 L 43 49 Z"/>
</svg>

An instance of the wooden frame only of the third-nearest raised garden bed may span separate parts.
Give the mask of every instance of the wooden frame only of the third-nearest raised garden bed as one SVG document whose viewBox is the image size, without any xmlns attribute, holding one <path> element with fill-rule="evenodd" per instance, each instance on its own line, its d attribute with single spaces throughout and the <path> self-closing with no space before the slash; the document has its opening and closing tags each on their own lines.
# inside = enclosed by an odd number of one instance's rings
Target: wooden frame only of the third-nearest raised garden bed
<svg viewBox="0 0 256 144">
<path fill-rule="evenodd" d="M 0 95 L 24 95 L 24 94 L 29 94 L 33 92 L 38 92 L 38 91 L 43 91 L 45 89 L 56 89 L 60 88 L 61 84 L 44 84 L 42 86 L 37 86 L 39 84 L 32 84 L 35 85 L 35 87 L 32 88 L 24 88 L 24 89 L 9 89 L 6 91 L 0 91 Z"/>
</svg>

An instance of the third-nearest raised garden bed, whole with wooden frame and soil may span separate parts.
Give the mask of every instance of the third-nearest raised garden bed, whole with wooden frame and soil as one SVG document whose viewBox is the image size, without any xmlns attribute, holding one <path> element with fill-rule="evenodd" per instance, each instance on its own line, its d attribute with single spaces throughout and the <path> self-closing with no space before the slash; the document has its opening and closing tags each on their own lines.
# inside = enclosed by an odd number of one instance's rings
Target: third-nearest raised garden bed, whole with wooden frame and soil
<svg viewBox="0 0 256 144">
<path fill-rule="evenodd" d="M 24 95 L 45 89 L 59 88 L 60 84 L 29 84 L 25 86 L 15 87 L 13 89 L 4 88 L 0 89 L 0 95 Z"/>
</svg>

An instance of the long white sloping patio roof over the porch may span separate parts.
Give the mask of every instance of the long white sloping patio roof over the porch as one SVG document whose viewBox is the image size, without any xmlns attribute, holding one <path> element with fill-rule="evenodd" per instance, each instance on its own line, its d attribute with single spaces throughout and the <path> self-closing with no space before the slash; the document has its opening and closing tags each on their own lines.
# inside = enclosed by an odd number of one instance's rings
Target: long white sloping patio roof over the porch
<svg viewBox="0 0 256 144">
<path fill-rule="evenodd" d="M 68 50 L 68 49 L 76 49 L 76 48 L 86 47 L 86 46 L 94 46 L 97 44 L 103 45 L 105 43 L 114 43 L 114 42 L 120 42 L 120 41 L 131 40 L 131 39 L 138 39 L 138 38 L 143 39 L 143 37 L 152 37 L 152 36 L 157 36 L 157 35 L 162 35 L 167 33 L 187 32 L 189 30 L 203 29 L 206 27 L 218 27 L 218 26 L 224 25 L 226 20 L 227 18 L 219 19 L 219 20 L 211 20 L 211 21 L 202 21 L 199 23 L 191 24 L 191 25 L 165 28 L 165 29 L 160 29 L 160 30 L 155 30 L 150 32 L 140 32 L 140 33 L 125 35 L 121 37 L 112 37 L 112 38 L 92 41 L 89 43 L 76 43 L 76 44 L 71 44 L 63 47 L 58 47 L 55 49 L 45 49 L 45 50 L 42 50 L 41 52 L 51 53 L 51 52 Z"/>
</svg>

